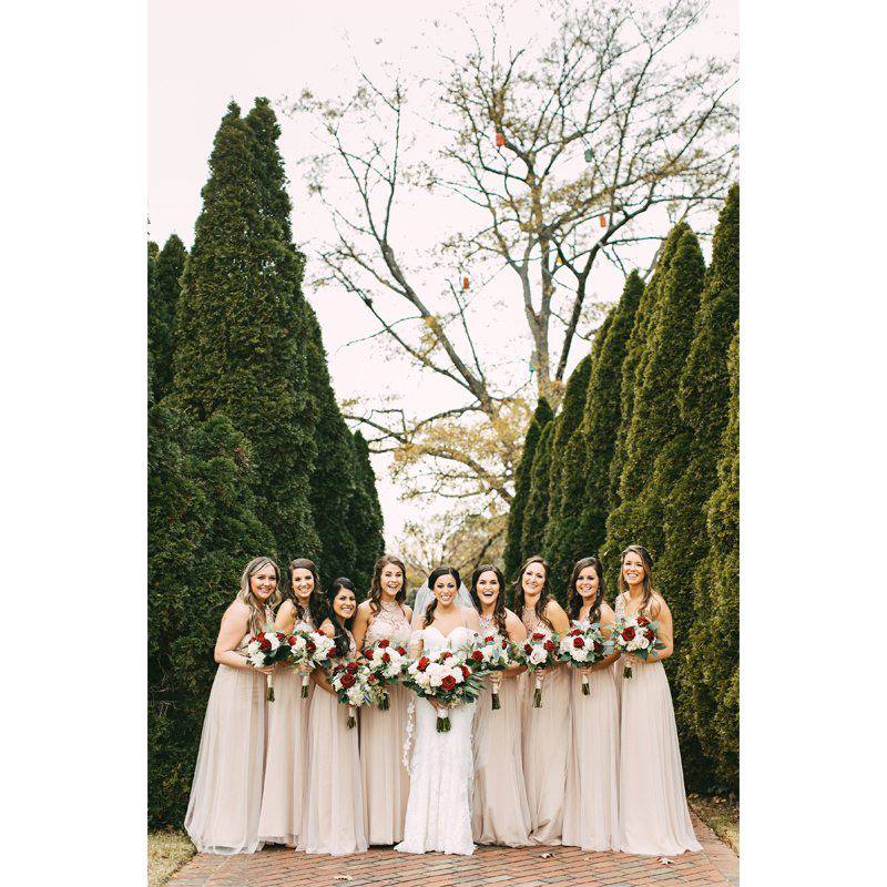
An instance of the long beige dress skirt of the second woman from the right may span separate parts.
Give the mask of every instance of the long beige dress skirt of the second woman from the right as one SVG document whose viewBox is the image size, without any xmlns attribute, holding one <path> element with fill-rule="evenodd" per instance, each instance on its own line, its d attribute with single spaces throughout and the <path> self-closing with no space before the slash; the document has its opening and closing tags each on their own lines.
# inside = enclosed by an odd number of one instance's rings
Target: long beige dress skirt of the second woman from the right
<svg viewBox="0 0 887 887">
<path fill-rule="evenodd" d="M 583 850 L 614 850 L 619 842 L 619 697 L 613 670 L 571 672 L 572 748 L 563 804 L 563 843 Z"/>
</svg>

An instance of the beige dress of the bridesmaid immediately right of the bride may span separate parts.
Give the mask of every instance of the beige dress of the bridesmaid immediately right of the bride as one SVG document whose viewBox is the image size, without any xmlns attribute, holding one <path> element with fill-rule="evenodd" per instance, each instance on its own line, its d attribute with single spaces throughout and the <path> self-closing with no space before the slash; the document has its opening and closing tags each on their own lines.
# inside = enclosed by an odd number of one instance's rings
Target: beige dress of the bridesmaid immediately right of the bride
<svg viewBox="0 0 887 887">
<path fill-rule="evenodd" d="M 496 634 L 492 618 L 480 618 L 480 633 Z M 530 840 L 530 807 L 523 784 L 520 676 L 503 677 L 498 711 L 492 710 L 490 682 L 485 682 L 475 711 L 472 746 L 475 792 L 471 832 L 477 844 L 526 847 Z"/>
</svg>

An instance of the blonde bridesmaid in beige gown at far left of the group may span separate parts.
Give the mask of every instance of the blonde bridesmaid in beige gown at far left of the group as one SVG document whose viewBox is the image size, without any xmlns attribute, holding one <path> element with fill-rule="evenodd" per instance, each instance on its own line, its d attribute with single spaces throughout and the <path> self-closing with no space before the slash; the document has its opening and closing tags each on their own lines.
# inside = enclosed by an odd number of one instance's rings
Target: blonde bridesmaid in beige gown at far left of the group
<svg viewBox="0 0 887 887">
<path fill-rule="evenodd" d="M 241 590 L 225 610 L 215 661 L 218 663 L 185 830 L 198 853 L 255 853 L 262 849 L 258 816 L 265 768 L 265 675 L 246 660 L 251 634 L 274 620 L 281 570 L 271 558 L 254 558 L 243 571 Z"/>
</svg>

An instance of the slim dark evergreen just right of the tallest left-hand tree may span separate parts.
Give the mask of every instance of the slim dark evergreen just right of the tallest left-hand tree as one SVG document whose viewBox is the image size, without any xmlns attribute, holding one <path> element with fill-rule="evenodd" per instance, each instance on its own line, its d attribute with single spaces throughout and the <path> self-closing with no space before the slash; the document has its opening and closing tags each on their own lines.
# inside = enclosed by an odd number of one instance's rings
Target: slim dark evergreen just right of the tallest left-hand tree
<svg viewBox="0 0 887 887">
<path fill-rule="evenodd" d="M 317 459 L 312 475 L 312 510 L 320 538 L 319 569 L 325 579 L 351 577 L 357 565 L 357 544 L 350 521 L 345 520 L 355 496 L 355 446 L 329 384 L 326 351 L 317 316 L 305 303 L 309 324 L 308 380 L 317 415 Z M 375 480 L 373 481 L 375 489 Z"/>
</svg>

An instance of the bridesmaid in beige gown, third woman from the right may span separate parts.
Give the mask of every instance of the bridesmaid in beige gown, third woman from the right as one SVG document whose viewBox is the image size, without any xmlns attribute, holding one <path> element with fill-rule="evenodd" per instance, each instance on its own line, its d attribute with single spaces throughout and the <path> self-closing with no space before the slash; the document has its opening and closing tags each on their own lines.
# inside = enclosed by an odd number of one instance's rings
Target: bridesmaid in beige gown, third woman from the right
<svg viewBox="0 0 887 887">
<path fill-rule="evenodd" d="M 563 608 L 551 597 L 549 565 L 528 558 L 514 584 L 516 609 L 527 634 L 563 634 L 570 630 Z M 521 676 L 523 694 L 523 778 L 530 805 L 533 844 L 561 844 L 563 794 L 570 757 L 570 666 L 557 664 Z M 536 676 L 543 679 L 542 707 L 532 707 Z"/>
</svg>

